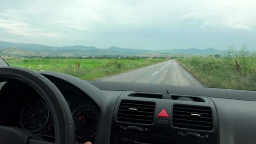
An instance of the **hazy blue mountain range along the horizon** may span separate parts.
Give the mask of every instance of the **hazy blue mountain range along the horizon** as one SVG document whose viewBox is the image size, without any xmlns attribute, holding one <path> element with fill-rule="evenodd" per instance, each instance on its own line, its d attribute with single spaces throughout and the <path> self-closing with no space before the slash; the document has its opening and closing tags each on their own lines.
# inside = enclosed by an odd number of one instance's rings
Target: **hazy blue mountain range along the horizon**
<svg viewBox="0 0 256 144">
<path fill-rule="evenodd" d="M 12 42 L 0 41 L 0 49 L 4 48 L 21 48 L 26 52 L 22 52 L 21 49 L 16 49 L 16 53 L 26 53 L 27 55 L 42 55 L 50 56 L 52 54 L 58 56 L 134 56 L 143 54 L 195 54 L 195 55 L 210 55 L 219 54 L 223 55 L 223 51 L 214 48 L 207 49 L 161 49 L 161 50 L 147 50 L 147 49 L 134 49 L 134 48 L 118 48 L 116 46 L 110 48 L 96 48 L 86 46 L 66 46 L 66 47 L 50 47 L 38 44 L 18 44 Z M 30 53 L 29 53 L 30 52 Z M 1 54 L 1 53 L 0 53 Z M 6 53 L 2 53 L 6 54 Z M 11 53 L 10 53 L 11 54 Z"/>
</svg>

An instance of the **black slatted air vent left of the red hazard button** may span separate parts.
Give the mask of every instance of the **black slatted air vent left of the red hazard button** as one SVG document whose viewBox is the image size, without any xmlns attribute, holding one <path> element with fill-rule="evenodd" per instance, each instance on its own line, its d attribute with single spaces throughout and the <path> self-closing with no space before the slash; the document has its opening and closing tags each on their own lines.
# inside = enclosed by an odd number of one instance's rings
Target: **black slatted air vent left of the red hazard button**
<svg viewBox="0 0 256 144">
<path fill-rule="evenodd" d="M 154 122 L 155 106 L 153 102 L 122 100 L 117 120 L 123 122 L 152 124 Z"/>
</svg>

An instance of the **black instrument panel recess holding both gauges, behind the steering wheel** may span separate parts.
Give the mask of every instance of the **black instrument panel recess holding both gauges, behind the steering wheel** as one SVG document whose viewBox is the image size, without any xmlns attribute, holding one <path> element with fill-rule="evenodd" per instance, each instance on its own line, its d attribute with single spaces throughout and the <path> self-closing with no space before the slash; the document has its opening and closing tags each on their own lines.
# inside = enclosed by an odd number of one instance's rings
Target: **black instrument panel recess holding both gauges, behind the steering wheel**
<svg viewBox="0 0 256 144">
<path fill-rule="evenodd" d="M 78 91 L 62 85 L 74 120 L 76 141 L 94 141 L 98 127 L 97 105 L 82 98 Z M 18 82 L 6 83 L 0 93 L 0 125 L 13 126 L 35 133 L 54 142 L 55 128 L 52 114 L 42 97 L 29 85 Z M 85 96 L 88 97 L 88 96 Z M 8 112 L 6 112 L 8 111 Z"/>
</svg>

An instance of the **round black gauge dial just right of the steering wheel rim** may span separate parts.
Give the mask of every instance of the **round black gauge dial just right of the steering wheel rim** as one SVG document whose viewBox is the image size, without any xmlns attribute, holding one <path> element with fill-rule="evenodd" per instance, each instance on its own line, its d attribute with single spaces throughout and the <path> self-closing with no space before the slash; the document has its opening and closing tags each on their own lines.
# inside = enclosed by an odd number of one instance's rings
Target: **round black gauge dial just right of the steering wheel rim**
<svg viewBox="0 0 256 144">
<path fill-rule="evenodd" d="M 94 136 L 98 127 L 98 111 L 94 106 L 83 105 L 73 112 L 75 135 L 86 139 Z"/>
</svg>

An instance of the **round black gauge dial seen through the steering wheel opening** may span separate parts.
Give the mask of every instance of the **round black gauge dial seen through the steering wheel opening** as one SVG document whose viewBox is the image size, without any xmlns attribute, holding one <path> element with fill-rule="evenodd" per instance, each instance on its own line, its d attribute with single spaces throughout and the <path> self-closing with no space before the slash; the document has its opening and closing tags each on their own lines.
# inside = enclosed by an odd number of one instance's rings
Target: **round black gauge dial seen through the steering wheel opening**
<svg viewBox="0 0 256 144">
<path fill-rule="evenodd" d="M 27 103 L 21 111 L 21 126 L 29 131 L 36 132 L 46 124 L 49 118 L 49 109 L 41 100 L 34 100 Z"/>
</svg>

